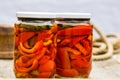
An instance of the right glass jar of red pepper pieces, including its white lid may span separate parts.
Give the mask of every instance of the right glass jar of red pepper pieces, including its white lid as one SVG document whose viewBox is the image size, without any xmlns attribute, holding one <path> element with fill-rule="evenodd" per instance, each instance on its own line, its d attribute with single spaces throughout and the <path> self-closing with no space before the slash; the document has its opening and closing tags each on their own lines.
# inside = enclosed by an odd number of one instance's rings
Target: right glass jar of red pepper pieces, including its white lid
<svg viewBox="0 0 120 80">
<path fill-rule="evenodd" d="M 91 71 L 90 14 L 58 14 L 56 77 L 88 77 Z"/>
</svg>

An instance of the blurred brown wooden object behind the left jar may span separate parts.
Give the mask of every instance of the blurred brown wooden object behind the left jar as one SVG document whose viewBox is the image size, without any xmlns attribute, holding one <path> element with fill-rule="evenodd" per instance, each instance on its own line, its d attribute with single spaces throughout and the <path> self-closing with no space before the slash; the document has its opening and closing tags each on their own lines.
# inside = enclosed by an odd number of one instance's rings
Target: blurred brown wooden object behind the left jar
<svg viewBox="0 0 120 80">
<path fill-rule="evenodd" d="M 0 24 L 0 58 L 13 57 L 13 35 L 12 24 Z"/>
</svg>

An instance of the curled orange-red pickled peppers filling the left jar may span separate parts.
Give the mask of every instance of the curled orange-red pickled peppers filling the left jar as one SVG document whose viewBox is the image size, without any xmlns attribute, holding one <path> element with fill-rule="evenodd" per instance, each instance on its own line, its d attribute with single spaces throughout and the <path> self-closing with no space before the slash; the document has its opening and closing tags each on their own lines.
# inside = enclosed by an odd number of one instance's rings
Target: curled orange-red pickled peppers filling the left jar
<svg viewBox="0 0 120 80">
<path fill-rule="evenodd" d="M 16 77 L 52 77 L 55 71 L 53 33 L 50 30 L 20 31 L 19 25 L 15 26 L 15 31 L 19 32 L 15 34 L 15 50 L 19 53 L 14 61 Z M 52 53 L 48 54 L 48 49 Z"/>
</svg>

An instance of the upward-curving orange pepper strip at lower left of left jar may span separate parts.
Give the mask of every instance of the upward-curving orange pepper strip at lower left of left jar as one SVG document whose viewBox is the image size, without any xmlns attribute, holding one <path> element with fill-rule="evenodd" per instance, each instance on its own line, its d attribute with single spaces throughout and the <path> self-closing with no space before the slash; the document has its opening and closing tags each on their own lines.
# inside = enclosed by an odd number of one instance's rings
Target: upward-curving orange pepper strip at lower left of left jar
<svg viewBox="0 0 120 80">
<path fill-rule="evenodd" d="M 38 66 L 38 60 L 34 60 L 32 66 L 25 68 L 25 67 L 19 67 L 17 65 L 17 63 L 15 64 L 15 69 L 17 72 L 21 72 L 21 73 L 26 73 L 26 72 L 30 72 L 31 70 L 34 70 L 36 67 Z"/>
</svg>

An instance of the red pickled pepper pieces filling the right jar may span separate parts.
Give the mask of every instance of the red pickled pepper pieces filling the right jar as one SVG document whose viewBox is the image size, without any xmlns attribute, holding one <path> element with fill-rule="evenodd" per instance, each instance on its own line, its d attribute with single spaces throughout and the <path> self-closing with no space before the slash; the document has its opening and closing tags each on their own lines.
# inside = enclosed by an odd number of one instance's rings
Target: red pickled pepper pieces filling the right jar
<svg viewBox="0 0 120 80">
<path fill-rule="evenodd" d="M 57 43 L 57 56 L 61 63 L 56 61 L 56 73 L 64 77 L 87 77 L 91 70 L 92 26 L 68 27 L 59 30 L 57 35 L 60 40 Z"/>
</svg>

